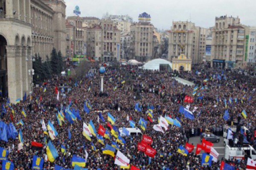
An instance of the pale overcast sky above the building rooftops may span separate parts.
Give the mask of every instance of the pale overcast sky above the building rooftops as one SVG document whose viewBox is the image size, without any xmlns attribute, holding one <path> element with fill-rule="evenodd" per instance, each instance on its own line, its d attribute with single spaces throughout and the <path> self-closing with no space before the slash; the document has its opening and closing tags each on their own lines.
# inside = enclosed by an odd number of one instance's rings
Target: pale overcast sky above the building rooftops
<svg viewBox="0 0 256 170">
<path fill-rule="evenodd" d="M 244 25 L 256 26 L 256 0 L 65 0 L 66 15 L 71 16 L 75 6 L 81 17 L 102 18 L 103 14 L 125 15 L 138 21 L 139 14 L 151 15 L 151 23 L 158 29 L 170 29 L 172 21 L 190 20 L 196 26 L 214 26 L 215 17 L 239 16 Z M 191 17 L 190 17 L 191 16 Z"/>
</svg>

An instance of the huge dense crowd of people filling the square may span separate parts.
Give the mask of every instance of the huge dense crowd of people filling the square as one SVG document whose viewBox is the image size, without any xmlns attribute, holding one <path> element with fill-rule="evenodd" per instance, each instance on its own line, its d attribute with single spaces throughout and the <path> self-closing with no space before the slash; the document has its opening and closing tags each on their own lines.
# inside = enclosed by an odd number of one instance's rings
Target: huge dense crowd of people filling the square
<svg viewBox="0 0 256 170">
<path fill-rule="evenodd" d="M 252 133 L 247 134 L 247 141 L 251 146 L 256 148 L 256 138 L 253 136 L 256 122 L 256 80 L 241 74 L 234 74 L 227 71 L 204 70 L 196 68 L 191 72 L 180 72 L 178 76 L 190 80 L 198 86 L 197 94 L 192 95 L 195 86 L 183 85 L 172 78 L 173 73 L 145 71 L 137 66 L 115 65 L 107 66 L 104 77 L 104 93 L 100 93 L 99 65 L 95 63 L 92 66 L 91 74 L 86 74 L 81 79 L 72 79 L 70 77 L 55 76 L 47 80 L 42 85 L 35 87 L 33 93 L 28 94 L 25 101 L 17 104 L 11 104 L 15 111 L 13 121 L 11 119 L 12 111 L 7 107 L 6 113 L 1 114 L 1 120 L 6 124 L 13 122 L 16 129 L 21 128 L 23 134 L 23 149 L 18 150 L 19 139 L 9 139 L 8 142 L 0 141 L 0 147 L 8 149 L 8 159 L 12 161 L 17 170 L 29 170 L 32 166 L 32 157 L 34 155 L 45 158 L 46 146 L 44 139 L 51 139 L 42 130 L 41 120 L 52 122 L 58 132 L 58 136 L 52 141 L 52 144 L 58 151 L 59 156 L 53 163 L 45 160 L 44 168 L 53 169 L 54 165 L 60 165 L 64 168 L 72 168 L 71 156 L 76 154 L 85 158 L 85 150 L 88 153 L 86 168 L 88 170 L 119 170 L 120 167 L 114 164 L 113 157 L 102 154 L 104 145 L 97 142 L 93 136 L 92 142 L 88 141 L 83 135 L 83 122 L 88 124 L 92 120 L 96 130 L 99 125 L 108 129 L 107 113 L 115 117 L 116 127 L 130 127 L 129 120 L 138 125 L 142 117 L 148 120 L 148 107 L 153 106 L 153 122 L 147 123 L 143 134 L 153 139 L 151 146 L 157 150 L 154 158 L 149 162 L 148 156 L 137 150 L 137 143 L 140 142 L 141 136 L 123 136 L 126 144 L 119 144 L 120 151 L 130 159 L 130 164 L 141 170 L 218 170 L 221 162 L 212 162 L 210 167 L 201 167 L 201 156 L 195 155 L 194 152 L 188 156 L 182 156 L 177 153 L 180 145 L 185 146 L 189 138 L 199 136 L 206 129 L 216 135 L 223 134 L 223 127 L 228 122 L 239 120 L 241 126 L 246 126 Z M 125 81 L 125 83 L 124 83 Z M 71 90 L 61 92 L 61 85 L 68 86 Z M 61 93 L 59 100 L 55 93 L 55 87 Z M 44 92 L 44 89 L 46 91 Z M 198 99 L 199 96 L 203 96 Z M 184 102 L 184 97 L 192 96 L 193 102 Z M 232 105 L 225 108 L 224 99 L 233 98 Z M 235 102 L 235 98 L 237 101 Z M 7 99 L 1 99 L 1 105 L 7 105 Z M 84 102 L 90 103 L 89 113 L 84 111 Z M 71 103 L 71 105 L 70 105 Z M 141 111 L 136 112 L 134 105 L 139 103 Z M 66 121 L 62 126 L 58 125 L 56 113 L 61 108 L 75 108 L 79 110 L 81 120 L 77 120 L 72 125 Z M 194 120 L 190 120 L 179 113 L 180 106 L 189 105 L 194 111 Z M 26 118 L 21 114 L 22 109 L 26 111 Z M 225 110 L 229 112 L 229 119 L 223 119 Z M 245 110 L 247 118 L 241 116 Z M 102 119 L 99 119 L 99 112 L 102 111 Z M 181 127 L 169 125 L 165 133 L 153 130 L 153 125 L 157 124 L 157 118 L 160 116 L 169 116 L 175 118 L 178 116 L 181 120 Z M 22 119 L 24 125 L 16 125 Z M 71 139 L 68 138 L 68 128 L 71 132 Z M 110 132 L 110 130 L 108 129 Z M 198 139 L 199 140 L 199 139 Z M 44 144 L 41 150 L 34 150 L 31 142 Z M 116 141 L 114 136 L 111 140 L 105 139 L 105 144 L 111 144 Z M 96 147 L 96 151 L 91 148 L 91 143 Z M 66 154 L 61 153 L 61 144 L 66 146 Z M 161 156 L 160 156 L 161 155 Z M 245 169 L 246 160 L 237 161 L 235 159 L 226 160 L 227 163 L 235 165 L 236 169 Z"/>
</svg>

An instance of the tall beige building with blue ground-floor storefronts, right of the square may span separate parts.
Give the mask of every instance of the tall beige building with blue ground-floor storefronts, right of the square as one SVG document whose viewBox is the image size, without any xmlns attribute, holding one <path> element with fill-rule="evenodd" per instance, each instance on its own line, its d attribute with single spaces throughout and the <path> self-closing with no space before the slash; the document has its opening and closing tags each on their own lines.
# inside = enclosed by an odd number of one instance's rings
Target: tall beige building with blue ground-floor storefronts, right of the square
<svg viewBox="0 0 256 170">
<path fill-rule="evenodd" d="M 243 68 L 246 64 L 246 26 L 240 24 L 239 17 L 221 16 L 215 18 L 212 29 L 211 67 Z"/>
</svg>

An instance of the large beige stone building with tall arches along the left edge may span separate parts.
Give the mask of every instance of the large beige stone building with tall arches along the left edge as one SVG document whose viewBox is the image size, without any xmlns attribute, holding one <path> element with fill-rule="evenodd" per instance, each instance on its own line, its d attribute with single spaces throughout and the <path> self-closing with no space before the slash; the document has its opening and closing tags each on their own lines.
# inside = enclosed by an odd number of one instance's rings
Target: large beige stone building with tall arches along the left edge
<svg viewBox="0 0 256 170">
<path fill-rule="evenodd" d="M 65 54 L 65 8 L 63 0 L 0 0 L 0 88 L 11 102 L 32 90 L 32 55 L 52 46 Z"/>
</svg>

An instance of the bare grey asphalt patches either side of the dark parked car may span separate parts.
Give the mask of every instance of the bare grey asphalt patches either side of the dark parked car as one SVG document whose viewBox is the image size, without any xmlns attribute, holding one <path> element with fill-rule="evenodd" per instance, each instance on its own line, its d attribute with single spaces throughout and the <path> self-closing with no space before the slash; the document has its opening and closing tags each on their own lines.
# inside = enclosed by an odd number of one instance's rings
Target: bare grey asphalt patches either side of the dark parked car
<svg viewBox="0 0 256 170">
<path fill-rule="evenodd" d="M 218 160 L 221 160 L 221 158 L 224 158 L 225 146 L 223 142 L 223 137 L 222 136 L 219 136 L 219 137 L 220 137 L 220 142 L 218 143 L 213 142 L 213 148 L 219 153 Z M 195 153 L 196 145 L 198 143 L 201 144 L 200 136 L 189 138 L 189 143 L 195 146 L 195 149 L 193 150 L 193 152 Z M 204 151 L 201 151 L 199 155 L 202 155 L 202 153 L 204 153 Z"/>
</svg>

